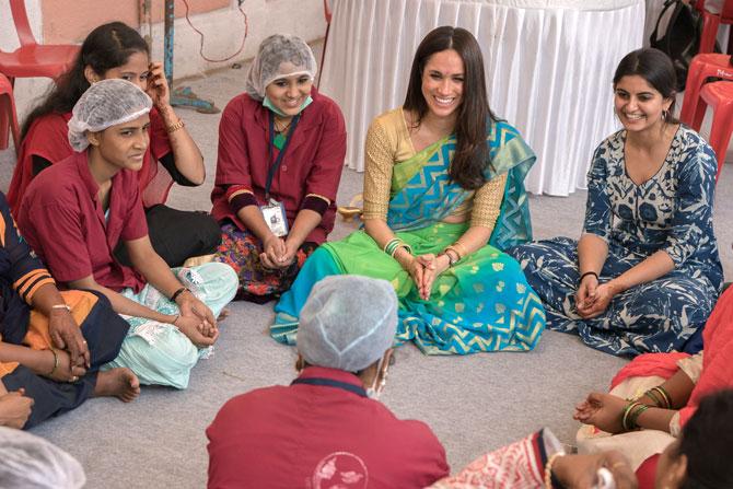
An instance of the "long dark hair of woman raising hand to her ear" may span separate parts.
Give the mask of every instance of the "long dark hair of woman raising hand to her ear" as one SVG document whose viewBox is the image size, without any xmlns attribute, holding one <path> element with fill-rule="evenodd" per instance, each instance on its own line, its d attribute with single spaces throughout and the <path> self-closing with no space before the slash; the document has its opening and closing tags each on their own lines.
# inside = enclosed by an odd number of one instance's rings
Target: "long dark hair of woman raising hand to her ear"
<svg viewBox="0 0 733 489">
<path fill-rule="evenodd" d="M 25 118 L 21 139 L 25 138 L 28 128 L 38 117 L 51 113 L 66 114 L 73 108 L 79 97 L 89 89 L 84 68 L 89 66 L 95 73 L 103 75 L 106 71 L 125 65 L 136 53 L 150 56 L 146 40 L 127 24 L 110 22 L 92 31 L 81 45 L 81 51 L 71 69 L 58 79 L 51 92 Z"/>
</svg>

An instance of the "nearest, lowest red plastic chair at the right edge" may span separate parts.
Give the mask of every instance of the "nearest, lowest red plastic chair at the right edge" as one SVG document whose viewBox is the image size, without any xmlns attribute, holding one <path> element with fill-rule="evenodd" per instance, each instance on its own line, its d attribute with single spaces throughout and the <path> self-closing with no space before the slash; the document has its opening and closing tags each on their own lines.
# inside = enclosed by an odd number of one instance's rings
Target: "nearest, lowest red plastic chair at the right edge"
<svg viewBox="0 0 733 489">
<path fill-rule="evenodd" d="M 723 170 L 728 144 L 731 142 L 731 135 L 733 133 L 733 83 L 728 81 L 707 83 L 700 91 L 700 101 L 702 102 L 702 113 L 705 113 L 707 105 L 712 107 L 712 127 L 708 141 L 718 159 L 718 174 L 715 176 L 715 179 L 718 179 L 721 170 Z M 694 127 L 694 129 L 700 130 L 700 126 Z"/>
</svg>

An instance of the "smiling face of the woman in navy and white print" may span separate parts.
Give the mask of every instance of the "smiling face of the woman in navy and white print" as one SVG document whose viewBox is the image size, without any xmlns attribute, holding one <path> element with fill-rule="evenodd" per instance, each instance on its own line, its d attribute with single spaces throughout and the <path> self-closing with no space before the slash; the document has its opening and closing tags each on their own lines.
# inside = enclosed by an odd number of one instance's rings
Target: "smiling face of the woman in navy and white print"
<svg viewBox="0 0 733 489">
<path fill-rule="evenodd" d="M 614 88 L 616 115 L 627 131 L 640 132 L 662 128 L 663 110 L 668 110 L 672 100 L 662 94 L 638 74 L 623 77 Z"/>
</svg>

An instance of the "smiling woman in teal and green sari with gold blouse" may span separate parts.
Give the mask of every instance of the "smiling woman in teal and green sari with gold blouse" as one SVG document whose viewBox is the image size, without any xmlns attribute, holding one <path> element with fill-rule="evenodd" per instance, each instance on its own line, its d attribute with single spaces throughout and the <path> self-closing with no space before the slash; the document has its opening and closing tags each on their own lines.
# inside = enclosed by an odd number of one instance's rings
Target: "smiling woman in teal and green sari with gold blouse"
<svg viewBox="0 0 733 489">
<path fill-rule="evenodd" d="M 313 284 L 352 273 L 394 286 L 397 342 L 428 354 L 532 350 L 545 311 L 501 249 L 532 238 L 523 181 L 535 155 L 491 114 L 470 33 L 428 34 L 404 106 L 372 123 L 365 155 L 364 230 L 305 261 L 275 307 L 272 337 L 294 344 Z"/>
</svg>

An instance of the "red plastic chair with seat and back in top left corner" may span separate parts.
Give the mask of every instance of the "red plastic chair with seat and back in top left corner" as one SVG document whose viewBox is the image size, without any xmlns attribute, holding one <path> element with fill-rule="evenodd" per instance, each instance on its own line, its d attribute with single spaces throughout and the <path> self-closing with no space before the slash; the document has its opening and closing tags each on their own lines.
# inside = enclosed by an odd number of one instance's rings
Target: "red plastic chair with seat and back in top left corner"
<svg viewBox="0 0 733 489">
<path fill-rule="evenodd" d="M 15 78 L 57 78 L 73 63 L 80 47 L 75 45 L 38 44 L 33 36 L 24 0 L 10 0 L 15 31 L 21 47 L 13 53 L 0 51 L 0 73 L 13 84 Z"/>
</svg>

